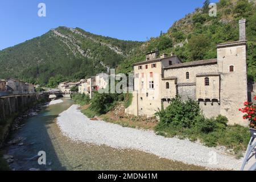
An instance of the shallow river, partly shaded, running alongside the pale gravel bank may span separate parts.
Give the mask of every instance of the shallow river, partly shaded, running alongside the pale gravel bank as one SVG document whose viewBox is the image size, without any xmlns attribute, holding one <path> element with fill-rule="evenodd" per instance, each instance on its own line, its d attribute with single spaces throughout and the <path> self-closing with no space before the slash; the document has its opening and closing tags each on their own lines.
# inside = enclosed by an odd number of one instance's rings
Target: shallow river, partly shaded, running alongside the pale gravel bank
<svg viewBox="0 0 256 182">
<path fill-rule="evenodd" d="M 63 102 L 44 106 L 38 115 L 28 118 L 22 129 L 12 133 L 10 139 L 24 138 L 23 145 L 4 148 L 5 154 L 13 155 L 14 170 L 204 170 L 203 167 L 159 158 L 137 150 L 117 150 L 108 146 L 97 146 L 73 142 L 61 134 L 56 123 L 60 113 L 74 103 Z M 46 165 L 38 164 L 38 152 L 46 152 Z"/>
</svg>

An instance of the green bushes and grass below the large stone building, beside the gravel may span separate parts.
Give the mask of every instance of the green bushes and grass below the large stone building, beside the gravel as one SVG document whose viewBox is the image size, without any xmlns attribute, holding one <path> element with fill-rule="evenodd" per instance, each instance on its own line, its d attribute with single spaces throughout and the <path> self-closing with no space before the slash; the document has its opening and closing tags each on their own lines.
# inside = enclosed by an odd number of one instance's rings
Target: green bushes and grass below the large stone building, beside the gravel
<svg viewBox="0 0 256 182">
<path fill-rule="evenodd" d="M 240 125 L 228 126 L 228 119 L 222 115 L 205 118 L 196 101 L 182 101 L 176 97 L 164 110 L 156 115 L 160 122 L 155 127 L 156 134 L 164 137 L 188 138 L 209 147 L 225 146 L 241 156 L 250 139 L 249 130 Z"/>
</svg>

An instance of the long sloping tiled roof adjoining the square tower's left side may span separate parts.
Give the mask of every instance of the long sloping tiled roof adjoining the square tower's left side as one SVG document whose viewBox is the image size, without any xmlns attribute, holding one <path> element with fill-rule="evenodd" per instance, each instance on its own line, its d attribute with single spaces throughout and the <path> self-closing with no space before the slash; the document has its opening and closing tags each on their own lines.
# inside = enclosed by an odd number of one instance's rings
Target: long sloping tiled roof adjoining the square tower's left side
<svg viewBox="0 0 256 182">
<path fill-rule="evenodd" d="M 174 64 L 174 65 L 168 66 L 164 69 L 196 67 L 196 66 L 208 65 L 208 64 L 217 64 L 217 59 L 208 59 L 208 60 L 200 60 L 200 61 L 191 61 L 188 63 Z"/>
</svg>

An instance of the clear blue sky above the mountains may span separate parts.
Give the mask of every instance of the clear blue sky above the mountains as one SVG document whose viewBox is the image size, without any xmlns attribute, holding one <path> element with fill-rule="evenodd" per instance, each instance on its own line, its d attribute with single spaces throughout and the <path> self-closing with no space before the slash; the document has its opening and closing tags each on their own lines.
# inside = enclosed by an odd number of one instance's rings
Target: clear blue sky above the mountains
<svg viewBox="0 0 256 182">
<path fill-rule="evenodd" d="M 46 17 L 38 4 L 46 4 Z M 59 26 L 93 34 L 144 41 L 201 7 L 204 0 L 1 0 L 0 50 Z M 211 0 L 217 2 L 217 0 Z"/>
</svg>

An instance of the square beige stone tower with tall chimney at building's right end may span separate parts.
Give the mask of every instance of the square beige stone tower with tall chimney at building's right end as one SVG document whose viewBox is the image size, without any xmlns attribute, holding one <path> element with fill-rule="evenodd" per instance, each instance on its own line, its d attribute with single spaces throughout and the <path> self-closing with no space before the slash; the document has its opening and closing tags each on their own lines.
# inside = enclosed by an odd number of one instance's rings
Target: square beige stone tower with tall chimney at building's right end
<svg viewBox="0 0 256 182">
<path fill-rule="evenodd" d="M 230 124 L 247 125 L 238 109 L 247 101 L 247 67 L 245 19 L 239 21 L 240 40 L 217 45 L 220 81 L 220 114 Z"/>
</svg>

